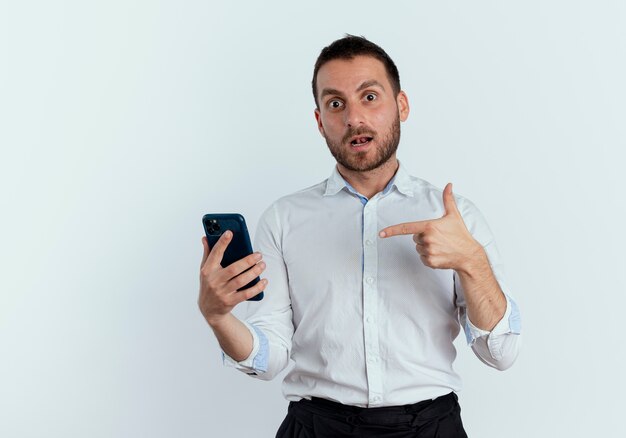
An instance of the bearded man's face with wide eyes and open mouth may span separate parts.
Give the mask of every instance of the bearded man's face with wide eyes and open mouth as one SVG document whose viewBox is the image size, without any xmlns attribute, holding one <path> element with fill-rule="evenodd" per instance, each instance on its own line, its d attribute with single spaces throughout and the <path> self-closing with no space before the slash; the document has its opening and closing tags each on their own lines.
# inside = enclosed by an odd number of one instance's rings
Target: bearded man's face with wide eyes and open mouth
<svg viewBox="0 0 626 438">
<path fill-rule="evenodd" d="M 317 73 L 317 89 L 315 118 L 337 163 L 366 172 L 394 156 L 409 105 L 404 92 L 394 94 L 382 62 L 370 56 L 329 61 Z"/>
</svg>

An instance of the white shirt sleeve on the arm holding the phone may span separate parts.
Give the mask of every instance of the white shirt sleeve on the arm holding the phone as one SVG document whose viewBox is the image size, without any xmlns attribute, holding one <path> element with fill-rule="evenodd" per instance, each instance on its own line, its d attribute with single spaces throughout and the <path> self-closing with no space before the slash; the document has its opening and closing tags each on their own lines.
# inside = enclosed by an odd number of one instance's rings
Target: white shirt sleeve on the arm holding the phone
<svg viewBox="0 0 626 438">
<path fill-rule="evenodd" d="M 271 380 L 289 365 L 293 321 L 287 269 L 282 257 L 282 235 L 276 204 L 259 220 L 254 241 L 266 264 L 261 275 L 268 279 L 264 297 L 246 302 L 243 323 L 253 338 L 250 356 L 236 362 L 224 352 L 224 365 L 232 366 L 261 380 Z"/>
</svg>

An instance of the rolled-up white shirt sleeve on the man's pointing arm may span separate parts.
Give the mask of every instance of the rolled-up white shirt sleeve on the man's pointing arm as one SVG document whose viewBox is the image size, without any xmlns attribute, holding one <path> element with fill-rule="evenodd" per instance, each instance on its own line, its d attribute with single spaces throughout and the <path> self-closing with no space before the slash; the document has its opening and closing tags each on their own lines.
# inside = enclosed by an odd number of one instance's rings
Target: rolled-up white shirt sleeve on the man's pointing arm
<svg viewBox="0 0 626 438">
<path fill-rule="evenodd" d="M 504 269 L 495 240 L 485 219 L 468 200 L 460 198 L 460 211 L 470 233 L 485 249 L 493 274 L 506 297 L 506 310 L 502 319 L 491 330 L 482 330 L 470 321 L 467 315 L 465 294 L 458 274 L 454 273 L 459 322 L 465 331 L 468 345 L 485 364 L 505 370 L 515 362 L 521 347 L 521 314 L 511 297 L 504 278 Z"/>
</svg>

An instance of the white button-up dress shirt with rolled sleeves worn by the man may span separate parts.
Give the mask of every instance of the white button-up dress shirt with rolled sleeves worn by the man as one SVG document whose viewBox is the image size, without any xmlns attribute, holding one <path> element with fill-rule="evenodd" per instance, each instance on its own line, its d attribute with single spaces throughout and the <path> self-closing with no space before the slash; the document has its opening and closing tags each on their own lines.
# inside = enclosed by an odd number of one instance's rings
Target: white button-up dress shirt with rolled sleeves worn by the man
<svg viewBox="0 0 626 438">
<path fill-rule="evenodd" d="M 521 319 L 478 209 L 455 195 L 507 298 L 491 332 L 469 321 L 454 271 L 425 266 L 410 235 L 378 237 L 390 225 L 441 217 L 442 196 L 400 165 L 385 190 L 368 200 L 335 168 L 327 180 L 272 204 L 255 239 L 269 283 L 263 300 L 247 303 L 244 321 L 253 350 L 240 362 L 223 354 L 224 363 L 269 380 L 292 359 L 283 381 L 287 400 L 321 397 L 361 407 L 459 391 L 452 363 L 461 327 L 484 363 L 508 368 L 518 353 Z"/>
</svg>

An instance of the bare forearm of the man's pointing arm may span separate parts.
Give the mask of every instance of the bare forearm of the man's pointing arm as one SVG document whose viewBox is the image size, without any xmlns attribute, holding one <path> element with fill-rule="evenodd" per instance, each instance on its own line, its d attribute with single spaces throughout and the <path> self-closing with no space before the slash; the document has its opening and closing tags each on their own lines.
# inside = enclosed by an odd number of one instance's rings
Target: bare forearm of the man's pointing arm
<svg viewBox="0 0 626 438">
<path fill-rule="evenodd" d="M 493 330 L 506 311 L 506 297 L 482 246 L 476 249 L 462 269 L 457 270 L 457 274 L 465 291 L 470 321 L 482 330 Z"/>
</svg>

